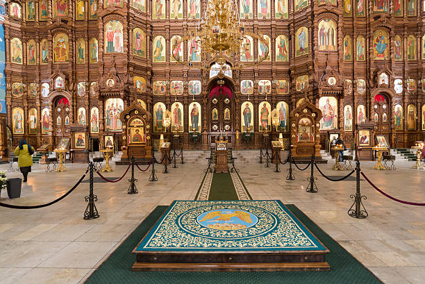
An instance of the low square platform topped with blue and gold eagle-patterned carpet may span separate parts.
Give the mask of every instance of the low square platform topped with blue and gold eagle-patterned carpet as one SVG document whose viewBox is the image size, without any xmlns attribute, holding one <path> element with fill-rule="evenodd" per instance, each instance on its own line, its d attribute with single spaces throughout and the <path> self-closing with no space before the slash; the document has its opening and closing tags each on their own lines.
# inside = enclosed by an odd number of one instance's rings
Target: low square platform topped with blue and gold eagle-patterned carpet
<svg viewBox="0 0 425 284">
<path fill-rule="evenodd" d="M 174 201 L 133 253 L 134 270 L 158 268 L 158 263 L 222 262 L 224 255 L 231 263 L 243 255 L 242 262 L 314 262 L 315 269 L 329 268 L 326 247 L 277 200 Z"/>
</svg>

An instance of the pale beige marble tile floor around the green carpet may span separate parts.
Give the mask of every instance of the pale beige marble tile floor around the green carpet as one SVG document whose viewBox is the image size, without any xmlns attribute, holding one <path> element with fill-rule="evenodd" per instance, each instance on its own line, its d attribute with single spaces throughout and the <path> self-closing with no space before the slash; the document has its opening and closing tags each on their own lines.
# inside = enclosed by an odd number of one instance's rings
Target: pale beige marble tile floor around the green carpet
<svg viewBox="0 0 425 284">
<path fill-rule="evenodd" d="M 331 165 L 332 162 L 319 167 L 325 174 L 342 174 L 331 171 Z M 374 162 L 361 165 L 363 172 L 388 194 L 425 202 L 425 170 L 411 170 L 412 162 L 397 160 L 396 171 L 382 172 L 372 170 Z M 23 184 L 22 197 L 8 199 L 3 190 L 1 201 L 34 205 L 60 197 L 87 167 L 66 166 L 65 173 L 46 173 L 44 165 L 35 165 L 28 183 Z M 47 208 L 0 208 L 0 282 L 83 283 L 153 208 L 169 205 L 176 199 L 193 200 L 204 167 L 205 163 L 191 162 L 170 169 L 169 174 L 163 174 L 159 167 L 156 183 L 149 183 L 149 172 L 137 171 L 139 194 L 134 195 L 127 194 L 129 174 L 118 183 L 94 183 L 100 214 L 94 220 L 83 219 L 88 183 L 81 183 L 68 197 Z M 280 199 L 295 204 L 383 282 L 424 283 L 424 206 L 408 206 L 387 199 L 362 181 L 369 217 L 353 219 L 347 210 L 356 181 L 330 182 L 317 176 L 319 192 L 310 194 L 306 192 L 310 171 L 295 170 L 296 180 L 286 181 L 287 165 L 281 166 L 281 173 L 255 162 L 237 167 L 253 199 Z M 125 166 L 114 168 L 115 172 L 106 176 L 120 176 L 126 169 Z M 7 169 L 8 165 L 0 165 L 0 171 Z M 6 174 L 8 178 L 22 176 L 19 172 Z"/>
</svg>

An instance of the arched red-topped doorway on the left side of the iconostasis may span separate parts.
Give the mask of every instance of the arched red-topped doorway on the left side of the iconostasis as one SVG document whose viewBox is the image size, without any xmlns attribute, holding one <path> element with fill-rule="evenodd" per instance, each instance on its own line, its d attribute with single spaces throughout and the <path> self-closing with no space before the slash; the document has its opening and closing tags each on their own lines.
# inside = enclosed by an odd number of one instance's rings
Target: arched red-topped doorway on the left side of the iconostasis
<svg viewBox="0 0 425 284">
<path fill-rule="evenodd" d="M 71 117 L 69 115 L 69 101 L 66 97 L 60 96 L 55 100 L 53 108 L 53 133 L 56 137 L 56 144 L 60 138 L 69 136 L 69 124 Z"/>
</svg>

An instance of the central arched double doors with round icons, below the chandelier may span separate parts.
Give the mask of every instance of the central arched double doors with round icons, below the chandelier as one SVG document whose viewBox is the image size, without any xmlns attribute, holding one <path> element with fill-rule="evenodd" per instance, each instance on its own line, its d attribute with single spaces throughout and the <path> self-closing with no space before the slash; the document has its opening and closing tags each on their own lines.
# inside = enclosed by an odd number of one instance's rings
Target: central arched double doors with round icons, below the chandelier
<svg viewBox="0 0 425 284">
<path fill-rule="evenodd" d="M 232 142 L 231 135 L 234 129 L 234 103 L 233 88 L 228 83 L 218 85 L 215 83 L 210 88 L 208 100 L 208 124 L 209 131 L 214 137 L 217 131 L 226 131 L 228 133 L 228 142 Z M 213 139 L 211 139 L 213 142 Z"/>
</svg>

